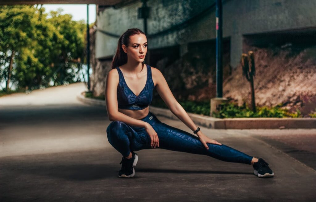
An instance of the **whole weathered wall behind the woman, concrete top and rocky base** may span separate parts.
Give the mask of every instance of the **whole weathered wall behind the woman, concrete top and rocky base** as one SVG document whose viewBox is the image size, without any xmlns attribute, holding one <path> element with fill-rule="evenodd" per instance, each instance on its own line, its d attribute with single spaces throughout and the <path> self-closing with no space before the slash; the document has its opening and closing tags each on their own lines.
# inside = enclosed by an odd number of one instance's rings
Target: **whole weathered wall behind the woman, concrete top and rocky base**
<svg viewBox="0 0 316 202">
<path fill-rule="evenodd" d="M 189 19 L 212 3 L 206 0 L 148 2 L 151 7 L 148 47 L 159 56 L 154 64 L 149 64 L 161 70 L 177 99 L 201 101 L 216 96 L 215 10 L 211 9 L 182 29 L 155 37 L 150 35 Z M 143 20 L 137 19 L 137 8 L 141 5 L 139 2 L 120 9 L 104 9 L 97 16 L 98 28 L 117 35 L 128 28 L 143 29 Z M 258 105 L 274 106 L 283 102 L 292 111 L 301 107 L 305 114 L 316 107 L 316 86 L 311 82 L 316 74 L 312 54 L 313 43 L 316 45 L 313 40 L 315 10 L 313 0 L 223 1 L 223 96 L 239 104 L 250 103 L 249 83 L 241 77 L 240 56 L 242 52 L 253 50 L 258 68 L 255 78 Z M 94 40 L 92 88 L 98 96 L 104 94 L 106 74 L 118 37 L 97 31 Z M 302 40 L 305 40 L 304 45 Z M 290 48 L 284 49 L 284 45 Z M 170 53 L 165 54 L 171 47 L 172 51 L 179 51 L 179 58 L 172 56 L 171 60 Z M 157 93 L 154 94 L 157 98 Z M 309 108 L 302 108 L 307 105 Z"/>
</svg>

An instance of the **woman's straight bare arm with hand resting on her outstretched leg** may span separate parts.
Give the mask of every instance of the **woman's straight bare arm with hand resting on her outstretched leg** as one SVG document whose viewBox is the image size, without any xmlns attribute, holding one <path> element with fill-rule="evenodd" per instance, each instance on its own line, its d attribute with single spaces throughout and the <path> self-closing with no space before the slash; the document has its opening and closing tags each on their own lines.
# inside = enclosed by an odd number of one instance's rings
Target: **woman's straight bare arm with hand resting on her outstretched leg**
<svg viewBox="0 0 316 202">
<path fill-rule="evenodd" d="M 179 104 L 179 102 L 173 96 L 167 84 L 167 81 L 165 77 L 162 75 L 161 71 L 156 68 L 152 68 L 152 72 L 153 72 L 153 77 L 155 79 L 157 92 L 161 96 L 162 100 L 166 103 L 170 111 L 176 117 L 178 117 L 185 125 L 187 125 L 192 130 L 192 132 L 194 132 L 197 129 L 197 126 L 194 124 L 194 122 L 192 121 L 190 116 L 186 113 L 184 108 Z M 221 145 L 221 143 L 218 143 L 216 140 L 212 140 L 206 137 L 201 130 L 198 131 L 196 134 L 200 138 L 200 141 L 204 144 L 206 149 L 208 149 L 208 146 L 206 143 Z"/>
</svg>

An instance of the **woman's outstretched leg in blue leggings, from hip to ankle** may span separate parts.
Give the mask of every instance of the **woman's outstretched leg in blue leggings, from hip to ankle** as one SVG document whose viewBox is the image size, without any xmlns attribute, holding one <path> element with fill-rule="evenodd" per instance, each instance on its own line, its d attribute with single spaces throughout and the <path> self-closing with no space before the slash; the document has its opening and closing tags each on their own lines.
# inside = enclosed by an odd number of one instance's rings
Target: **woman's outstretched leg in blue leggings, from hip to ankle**
<svg viewBox="0 0 316 202">
<path fill-rule="evenodd" d="M 252 156 L 225 144 L 207 143 L 209 146 L 207 150 L 197 136 L 162 122 L 156 123 L 154 130 L 158 134 L 161 149 L 203 154 L 226 162 L 251 164 Z"/>
</svg>

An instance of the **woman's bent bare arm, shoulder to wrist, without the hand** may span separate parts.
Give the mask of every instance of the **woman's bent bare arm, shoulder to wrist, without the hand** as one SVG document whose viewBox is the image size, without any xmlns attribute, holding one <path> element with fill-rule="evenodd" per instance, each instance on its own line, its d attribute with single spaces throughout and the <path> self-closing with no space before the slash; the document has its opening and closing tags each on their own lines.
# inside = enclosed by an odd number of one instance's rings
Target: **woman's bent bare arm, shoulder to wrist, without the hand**
<svg viewBox="0 0 316 202">
<path fill-rule="evenodd" d="M 119 84 L 119 72 L 116 69 L 112 69 L 106 76 L 106 87 L 105 87 L 105 101 L 106 101 L 106 112 L 110 121 L 122 121 L 128 125 L 136 127 L 148 127 L 149 123 L 134 119 L 124 113 L 119 112 L 118 101 L 117 101 L 117 87 Z"/>
</svg>

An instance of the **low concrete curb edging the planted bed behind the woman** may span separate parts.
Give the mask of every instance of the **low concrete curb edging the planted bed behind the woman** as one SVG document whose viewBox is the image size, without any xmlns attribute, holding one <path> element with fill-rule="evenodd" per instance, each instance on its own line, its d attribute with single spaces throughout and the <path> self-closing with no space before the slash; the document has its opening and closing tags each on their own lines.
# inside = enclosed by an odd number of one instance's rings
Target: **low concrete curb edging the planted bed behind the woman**
<svg viewBox="0 0 316 202">
<path fill-rule="evenodd" d="M 77 95 L 77 99 L 85 104 L 106 106 L 105 101 L 86 98 Z M 169 109 L 149 106 L 149 111 L 155 115 L 178 120 Z M 284 128 L 316 128 L 316 118 L 226 118 L 219 119 L 210 116 L 188 113 L 196 125 L 214 129 L 284 129 Z"/>
</svg>

